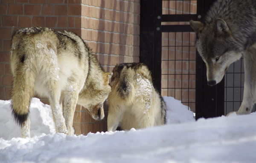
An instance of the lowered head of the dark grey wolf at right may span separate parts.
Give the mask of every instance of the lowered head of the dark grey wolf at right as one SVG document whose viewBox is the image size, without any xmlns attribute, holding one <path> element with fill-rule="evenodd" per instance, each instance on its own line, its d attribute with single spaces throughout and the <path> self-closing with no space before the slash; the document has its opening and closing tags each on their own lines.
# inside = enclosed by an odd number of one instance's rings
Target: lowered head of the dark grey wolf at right
<svg viewBox="0 0 256 163">
<path fill-rule="evenodd" d="M 189 23 L 197 34 L 195 47 L 207 66 L 208 85 L 214 86 L 221 82 L 229 65 L 241 58 L 244 45 L 223 19 L 208 24 L 193 20 Z"/>
</svg>

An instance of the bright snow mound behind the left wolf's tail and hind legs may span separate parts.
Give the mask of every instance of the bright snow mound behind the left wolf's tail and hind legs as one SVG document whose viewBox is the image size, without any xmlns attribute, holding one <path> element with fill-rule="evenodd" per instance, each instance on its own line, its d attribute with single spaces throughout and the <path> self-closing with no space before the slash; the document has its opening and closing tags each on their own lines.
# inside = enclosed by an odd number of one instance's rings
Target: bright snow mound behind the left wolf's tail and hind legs
<svg viewBox="0 0 256 163">
<path fill-rule="evenodd" d="M 21 128 L 12 117 L 11 100 L 0 100 L 0 138 L 10 140 L 21 136 Z M 30 135 L 39 136 L 42 133 L 55 133 L 52 119 L 52 110 L 49 105 L 43 104 L 40 99 L 32 98 L 29 108 Z"/>
</svg>

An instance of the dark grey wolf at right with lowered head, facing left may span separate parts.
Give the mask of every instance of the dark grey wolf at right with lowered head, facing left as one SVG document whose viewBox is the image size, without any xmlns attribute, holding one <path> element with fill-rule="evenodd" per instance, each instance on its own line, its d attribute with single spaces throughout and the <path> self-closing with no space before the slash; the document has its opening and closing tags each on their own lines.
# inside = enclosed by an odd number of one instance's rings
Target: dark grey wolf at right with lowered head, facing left
<svg viewBox="0 0 256 163">
<path fill-rule="evenodd" d="M 221 81 L 229 65 L 244 57 L 244 98 L 236 112 L 249 114 L 256 102 L 256 1 L 218 0 L 203 22 L 190 21 L 195 47 L 207 66 L 207 81 Z"/>
</svg>

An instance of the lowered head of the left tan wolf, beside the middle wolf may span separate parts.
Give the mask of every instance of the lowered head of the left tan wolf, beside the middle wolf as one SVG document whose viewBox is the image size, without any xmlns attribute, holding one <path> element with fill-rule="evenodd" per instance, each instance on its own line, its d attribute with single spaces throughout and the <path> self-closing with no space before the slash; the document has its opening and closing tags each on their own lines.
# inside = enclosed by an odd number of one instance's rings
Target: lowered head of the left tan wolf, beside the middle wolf
<svg viewBox="0 0 256 163">
<path fill-rule="evenodd" d="M 87 79 L 90 80 L 89 84 L 86 86 L 85 90 L 79 93 L 77 103 L 82 105 L 95 120 L 103 121 L 105 118 L 103 103 L 111 92 L 109 79 L 112 74 L 112 72 L 104 72 L 102 74 L 102 80 L 100 81 L 96 81 L 96 78 Z"/>
</svg>

